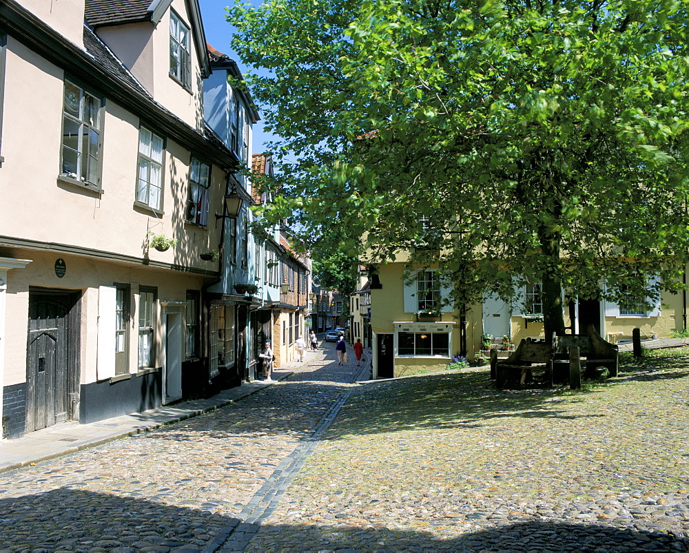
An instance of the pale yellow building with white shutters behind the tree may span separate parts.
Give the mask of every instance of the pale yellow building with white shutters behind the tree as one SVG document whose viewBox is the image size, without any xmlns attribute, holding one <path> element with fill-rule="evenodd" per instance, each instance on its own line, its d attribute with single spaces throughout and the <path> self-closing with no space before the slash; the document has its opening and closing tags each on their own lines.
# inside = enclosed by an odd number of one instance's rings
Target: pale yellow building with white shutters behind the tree
<svg viewBox="0 0 689 553">
<path fill-rule="evenodd" d="M 519 344 L 526 337 L 545 338 L 541 286 L 517 290 L 515 304 L 489 297 L 482 304 L 444 304 L 451 283 L 438 269 L 405 262 L 368 265 L 373 378 L 442 371 L 453 355 L 475 359 L 486 337 L 502 348 L 503 337 Z M 608 341 L 630 340 L 633 328 L 642 338 L 666 337 L 686 328 L 686 298 L 663 293 L 655 305 L 617 304 L 604 300 L 566 300 L 568 333 L 583 333 L 593 324 Z M 528 306 L 525 307 L 525 306 Z"/>
</svg>

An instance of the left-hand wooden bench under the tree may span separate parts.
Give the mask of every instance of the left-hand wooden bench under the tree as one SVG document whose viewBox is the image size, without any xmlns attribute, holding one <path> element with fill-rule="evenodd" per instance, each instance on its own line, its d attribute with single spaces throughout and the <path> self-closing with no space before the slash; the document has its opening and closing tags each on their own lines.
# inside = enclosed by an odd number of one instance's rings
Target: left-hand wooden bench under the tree
<svg viewBox="0 0 689 553">
<path fill-rule="evenodd" d="M 491 373 L 493 366 L 497 388 L 522 386 L 533 370 L 545 371 L 546 384 L 553 386 L 553 348 L 550 344 L 526 338 L 504 361 L 497 361 L 497 355 L 491 357 Z"/>
</svg>

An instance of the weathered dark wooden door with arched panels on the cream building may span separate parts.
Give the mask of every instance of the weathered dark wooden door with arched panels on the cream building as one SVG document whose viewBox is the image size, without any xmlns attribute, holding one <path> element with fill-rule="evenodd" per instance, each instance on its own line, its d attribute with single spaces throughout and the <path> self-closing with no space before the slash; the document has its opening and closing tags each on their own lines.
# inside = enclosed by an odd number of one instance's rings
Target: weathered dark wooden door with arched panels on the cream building
<svg viewBox="0 0 689 553">
<path fill-rule="evenodd" d="M 29 291 L 27 432 L 78 418 L 78 298 L 63 291 Z"/>
</svg>

